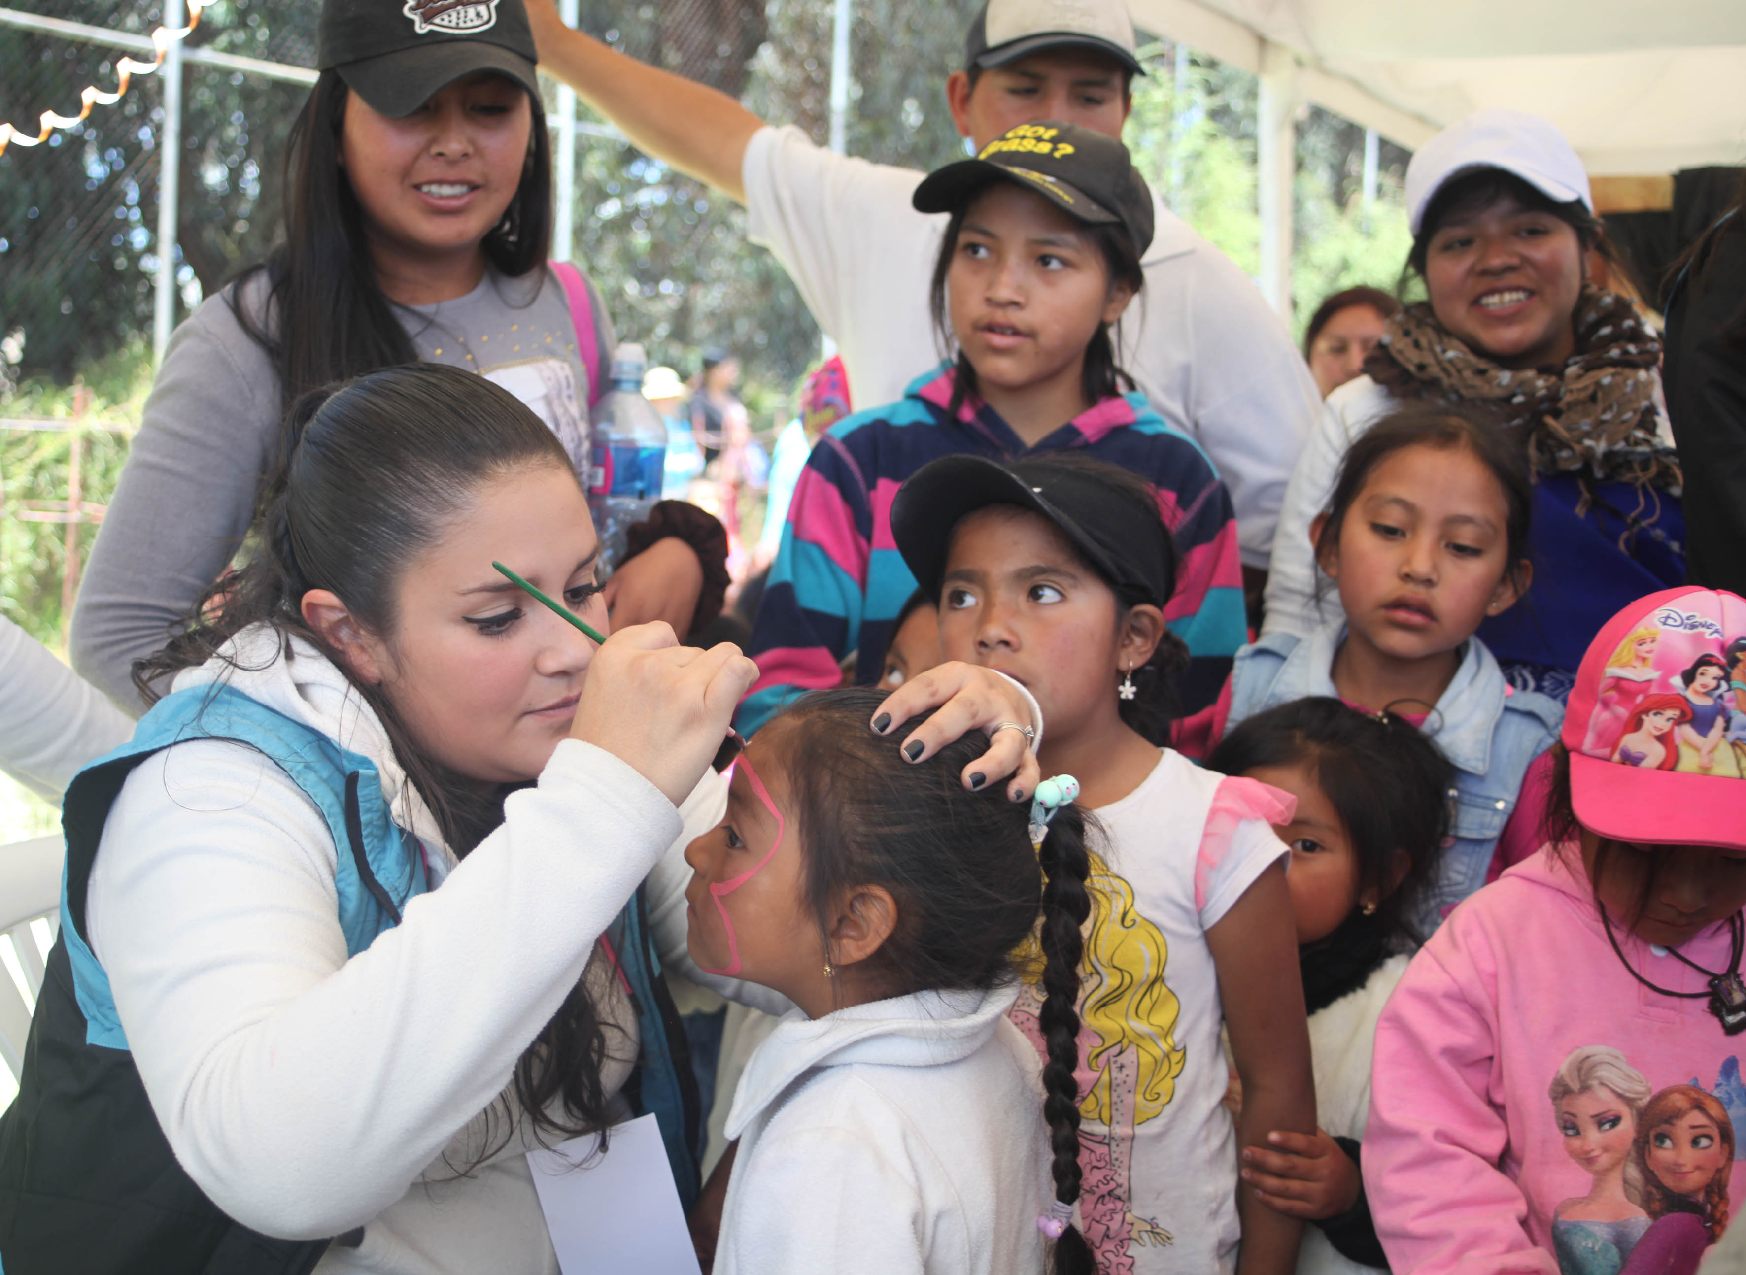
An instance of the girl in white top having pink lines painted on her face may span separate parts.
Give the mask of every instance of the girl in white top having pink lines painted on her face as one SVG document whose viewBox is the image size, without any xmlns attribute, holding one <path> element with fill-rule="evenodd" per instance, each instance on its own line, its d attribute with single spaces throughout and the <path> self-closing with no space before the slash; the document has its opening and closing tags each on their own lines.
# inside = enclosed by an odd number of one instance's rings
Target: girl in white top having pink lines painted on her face
<svg viewBox="0 0 1746 1275">
<path fill-rule="evenodd" d="M 691 959 L 798 1006 L 728 1114 L 716 1275 L 1091 1275 L 1074 1226 L 1091 906 L 1077 786 L 1037 786 L 1027 821 L 960 782 L 986 741 L 910 765 L 866 734 L 878 704 L 798 700 L 684 852 Z M 1007 1018 L 1023 945 L 1048 992 L 1041 1085 Z"/>
</svg>

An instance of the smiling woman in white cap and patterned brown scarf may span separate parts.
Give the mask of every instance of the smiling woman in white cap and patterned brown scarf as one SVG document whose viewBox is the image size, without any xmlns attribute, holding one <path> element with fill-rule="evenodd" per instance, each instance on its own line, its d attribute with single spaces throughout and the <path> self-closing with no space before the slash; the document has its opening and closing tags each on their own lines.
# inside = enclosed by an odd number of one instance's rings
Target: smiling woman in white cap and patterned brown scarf
<svg viewBox="0 0 1746 1275">
<path fill-rule="evenodd" d="M 1486 110 L 1437 134 L 1407 168 L 1407 265 L 1430 299 L 1388 320 L 1365 376 L 1329 396 L 1285 493 L 1264 632 L 1337 613 L 1310 522 L 1351 442 L 1400 400 L 1488 403 L 1533 458 L 1535 589 L 1479 636 L 1517 685 L 1563 699 L 1606 618 L 1685 576 L 1660 341 L 1589 281 L 1589 178 L 1545 121 Z"/>
</svg>

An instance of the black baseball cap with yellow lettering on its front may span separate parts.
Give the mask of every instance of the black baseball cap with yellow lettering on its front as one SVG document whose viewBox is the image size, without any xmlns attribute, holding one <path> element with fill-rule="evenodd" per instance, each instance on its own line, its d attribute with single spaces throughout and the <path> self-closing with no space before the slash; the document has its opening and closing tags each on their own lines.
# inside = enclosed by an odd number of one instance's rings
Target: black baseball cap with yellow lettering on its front
<svg viewBox="0 0 1746 1275">
<path fill-rule="evenodd" d="M 1152 192 L 1119 138 L 1056 119 L 1020 124 L 976 159 L 929 173 L 910 203 L 922 213 L 952 213 L 990 182 L 1016 182 L 1081 222 L 1121 225 L 1137 257 L 1152 243 Z"/>
</svg>

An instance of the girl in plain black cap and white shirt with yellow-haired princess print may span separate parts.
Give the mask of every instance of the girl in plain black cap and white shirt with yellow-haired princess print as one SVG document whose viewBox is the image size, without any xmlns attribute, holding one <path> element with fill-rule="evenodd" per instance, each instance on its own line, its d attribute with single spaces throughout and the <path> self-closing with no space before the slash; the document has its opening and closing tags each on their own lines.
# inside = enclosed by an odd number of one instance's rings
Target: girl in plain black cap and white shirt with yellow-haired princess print
<svg viewBox="0 0 1746 1275">
<path fill-rule="evenodd" d="M 1292 803 L 1163 746 L 1182 651 L 1165 624 L 1177 557 L 1151 487 L 1083 456 L 950 456 L 904 484 L 892 533 L 939 597 L 941 653 L 1037 697 L 1039 760 L 1074 774 L 1096 816 L 1079 1219 L 1100 1268 L 1290 1272 L 1301 1223 L 1238 1186 L 1236 1151 L 1269 1130 L 1315 1132 L 1287 851 L 1271 828 Z M 1042 1010 L 1027 983 L 1013 1015 L 1039 1053 L 1053 1039 Z M 1220 1102 L 1220 1022 L 1240 1127 Z"/>
</svg>

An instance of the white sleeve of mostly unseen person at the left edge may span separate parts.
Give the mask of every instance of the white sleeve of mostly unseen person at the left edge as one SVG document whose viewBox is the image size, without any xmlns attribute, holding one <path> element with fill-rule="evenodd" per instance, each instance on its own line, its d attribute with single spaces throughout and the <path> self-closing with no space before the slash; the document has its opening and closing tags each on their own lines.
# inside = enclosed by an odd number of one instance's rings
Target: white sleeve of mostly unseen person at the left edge
<svg viewBox="0 0 1746 1275">
<path fill-rule="evenodd" d="M 133 737 L 133 718 L 0 617 L 0 770 L 59 803 L 79 770 Z"/>
</svg>

